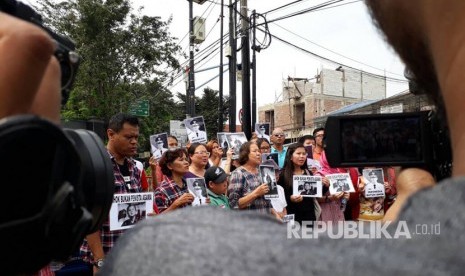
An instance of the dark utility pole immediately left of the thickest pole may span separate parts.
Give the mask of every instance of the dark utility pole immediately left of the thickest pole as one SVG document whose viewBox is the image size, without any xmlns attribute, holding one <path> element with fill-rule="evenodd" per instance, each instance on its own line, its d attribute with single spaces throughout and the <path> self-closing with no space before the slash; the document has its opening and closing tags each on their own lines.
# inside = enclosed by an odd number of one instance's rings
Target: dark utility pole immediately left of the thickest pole
<svg viewBox="0 0 465 276">
<path fill-rule="evenodd" d="M 229 132 L 236 132 L 236 12 L 229 0 Z"/>
</svg>

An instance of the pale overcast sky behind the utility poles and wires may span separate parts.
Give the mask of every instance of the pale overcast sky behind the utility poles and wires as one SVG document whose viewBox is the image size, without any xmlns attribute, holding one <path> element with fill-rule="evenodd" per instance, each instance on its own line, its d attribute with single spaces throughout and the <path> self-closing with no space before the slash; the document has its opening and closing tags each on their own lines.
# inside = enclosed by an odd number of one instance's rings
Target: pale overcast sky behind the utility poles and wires
<svg viewBox="0 0 465 276">
<path fill-rule="evenodd" d="M 40 0 L 27 0 L 26 2 L 39 2 Z M 269 12 L 283 5 L 298 2 L 285 8 Z M 337 2 L 322 0 L 248 0 L 249 16 L 252 10 L 257 13 L 266 13 L 271 21 L 297 11 L 304 11 L 321 3 Z M 179 39 L 179 45 L 188 56 L 189 30 L 189 2 L 186 0 L 132 0 L 134 11 L 144 6 L 142 13 L 151 16 L 160 16 L 167 20 L 173 17 L 170 25 L 171 35 Z M 209 67 L 219 66 L 219 51 L 205 58 L 205 48 L 220 37 L 220 3 L 221 0 L 208 0 L 203 5 L 194 3 L 194 16 L 206 18 L 205 42 L 198 45 L 196 53 L 196 71 Z M 229 4 L 229 0 L 224 0 Z M 224 9 L 224 33 L 227 34 L 229 13 Z M 297 78 L 313 78 L 321 68 L 335 69 L 342 65 L 351 66 L 370 73 L 386 75 L 389 78 L 402 79 L 403 64 L 397 55 L 386 45 L 378 31 L 373 26 L 363 1 L 344 0 L 337 2 L 326 9 L 307 12 L 288 19 L 275 21 L 269 24 L 270 33 L 280 39 L 294 44 L 305 51 L 314 53 L 336 63 L 324 61 L 312 54 L 295 47 L 286 45 L 278 39 L 272 38 L 267 49 L 257 54 L 257 106 L 273 103 L 279 99 L 282 92 L 283 80 L 288 76 Z M 261 32 L 257 32 L 261 35 Z M 262 36 L 261 36 L 262 37 Z M 218 48 L 214 44 L 211 49 Z M 209 52 L 209 51 L 208 51 Z M 205 58 L 197 64 L 201 58 Z M 238 53 L 238 61 L 241 56 Z M 180 62 L 187 60 L 180 57 Z M 226 64 L 228 59 L 224 58 Z M 227 67 L 225 67 L 227 68 Z M 198 72 L 195 74 L 196 87 L 215 78 L 203 87 L 196 90 L 200 95 L 205 87 L 219 89 L 219 68 Z M 168 87 L 173 92 L 185 93 L 185 84 L 181 78 L 174 81 L 174 87 Z M 237 84 L 237 102 L 241 103 L 241 83 Z M 387 82 L 387 96 L 400 93 L 407 89 L 406 82 Z M 228 72 L 224 74 L 224 94 L 229 94 Z M 240 108 L 240 107 L 239 107 Z M 239 109 L 238 108 L 238 109 Z"/>
</svg>

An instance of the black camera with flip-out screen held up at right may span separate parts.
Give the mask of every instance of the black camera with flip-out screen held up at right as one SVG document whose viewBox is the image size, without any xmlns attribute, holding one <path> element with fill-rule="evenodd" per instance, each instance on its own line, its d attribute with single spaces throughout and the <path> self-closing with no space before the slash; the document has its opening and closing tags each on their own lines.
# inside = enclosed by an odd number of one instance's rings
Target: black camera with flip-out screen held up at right
<svg viewBox="0 0 465 276">
<path fill-rule="evenodd" d="M 451 174 L 448 131 L 432 111 L 329 116 L 325 133 L 332 167 L 420 167 L 438 180 Z"/>
</svg>

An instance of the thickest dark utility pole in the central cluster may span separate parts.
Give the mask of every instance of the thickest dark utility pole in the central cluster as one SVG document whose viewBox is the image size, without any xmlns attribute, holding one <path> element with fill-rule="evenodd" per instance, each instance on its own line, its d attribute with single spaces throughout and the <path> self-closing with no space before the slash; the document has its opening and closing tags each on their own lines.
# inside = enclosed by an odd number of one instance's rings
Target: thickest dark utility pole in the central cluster
<svg viewBox="0 0 465 276">
<path fill-rule="evenodd" d="M 241 0 L 242 31 L 242 130 L 247 139 L 252 137 L 250 126 L 250 45 L 249 18 L 247 16 L 247 0 Z"/>
</svg>

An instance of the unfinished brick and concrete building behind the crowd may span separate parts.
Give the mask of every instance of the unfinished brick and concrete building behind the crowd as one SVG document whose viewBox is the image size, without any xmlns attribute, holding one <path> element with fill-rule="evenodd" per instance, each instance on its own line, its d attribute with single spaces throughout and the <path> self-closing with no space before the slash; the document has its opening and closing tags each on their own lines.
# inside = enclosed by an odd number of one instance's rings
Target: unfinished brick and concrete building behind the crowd
<svg viewBox="0 0 465 276">
<path fill-rule="evenodd" d="M 291 78 L 283 84 L 282 100 L 258 107 L 258 122 L 280 127 L 286 141 L 314 129 L 314 119 L 362 101 L 386 98 L 386 78 L 359 70 L 322 69 L 313 79 Z"/>
</svg>

